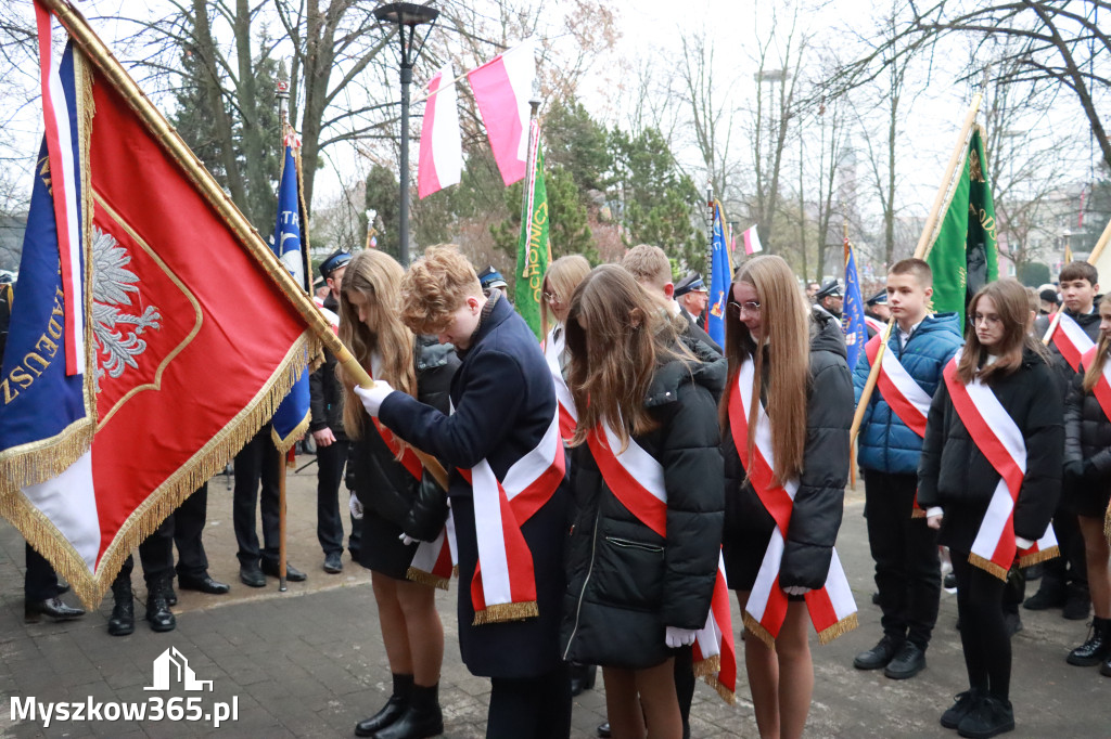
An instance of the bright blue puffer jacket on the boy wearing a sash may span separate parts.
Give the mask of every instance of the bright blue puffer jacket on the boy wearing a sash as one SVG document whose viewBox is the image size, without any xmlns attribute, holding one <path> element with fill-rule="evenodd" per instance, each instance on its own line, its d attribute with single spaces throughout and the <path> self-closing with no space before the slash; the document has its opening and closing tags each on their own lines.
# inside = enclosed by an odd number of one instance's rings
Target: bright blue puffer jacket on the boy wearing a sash
<svg viewBox="0 0 1111 739">
<path fill-rule="evenodd" d="M 899 328 L 893 327 L 887 351 L 894 352 L 910 376 L 932 397 L 941 383 L 941 371 L 963 343 L 957 314 L 938 313 L 927 316 L 919 324 L 902 351 L 899 350 Z M 868 354 L 861 352 L 852 373 L 852 387 L 858 403 L 870 371 Z M 891 411 L 878 389 L 872 393 L 860 424 L 858 455 L 860 466 L 865 469 L 893 475 L 918 474 L 922 439 Z"/>
</svg>

